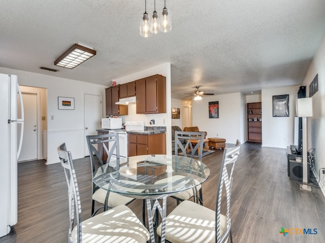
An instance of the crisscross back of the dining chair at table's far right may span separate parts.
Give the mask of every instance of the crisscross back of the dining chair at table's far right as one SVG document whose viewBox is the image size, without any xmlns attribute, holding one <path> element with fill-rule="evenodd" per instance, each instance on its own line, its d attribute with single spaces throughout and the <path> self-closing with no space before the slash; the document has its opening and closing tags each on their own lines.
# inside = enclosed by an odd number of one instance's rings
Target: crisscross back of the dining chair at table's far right
<svg viewBox="0 0 325 243">
<path fill-rule="evenodd" d="M 192 142 L 196 140 L 196 142 Z M 202 161 L 204 132 L 182 132 L 175 131 L 175 155 L 179 155 L 178 149 L 182 151 L 183 156 L 198 156 Z"/>
</svg>

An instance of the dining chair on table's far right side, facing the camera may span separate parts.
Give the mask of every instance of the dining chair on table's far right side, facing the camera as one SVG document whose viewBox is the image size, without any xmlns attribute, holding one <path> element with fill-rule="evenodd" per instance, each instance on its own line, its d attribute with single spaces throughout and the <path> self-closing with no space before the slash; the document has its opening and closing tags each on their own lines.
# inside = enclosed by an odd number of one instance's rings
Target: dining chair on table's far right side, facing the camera
<svg viewBox="0 0 325 243">
<path fill-rule="evenodd" d="M 175 131 L 175 155 L 183 155 L 191 158 L 194 158 L 195 156 L 196 159 L 202 161 L 204 136 L 205 132 Z M 197 193 L 198 191 L 199 195 Z M 172 197 L 177 200 L 177 205 L 179 205 L 180 201 L 188 200 L 191 197 L 194 198 L 196 203 L 203 205 L 203 192 L 201 185 L 182 191 Z"/>
</svg>

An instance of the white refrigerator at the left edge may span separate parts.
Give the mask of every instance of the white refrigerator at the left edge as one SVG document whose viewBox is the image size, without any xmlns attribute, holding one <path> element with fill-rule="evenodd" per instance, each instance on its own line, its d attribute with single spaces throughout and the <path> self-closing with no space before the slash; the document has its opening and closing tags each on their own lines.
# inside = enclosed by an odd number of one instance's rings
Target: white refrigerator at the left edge
<svg viewBox="0 0 325 243">
<path fill-rule="evenodd" d="M 17 117 L 18 102 L 21 117 Z M 0 237 L 17 223 L 17 159 L 22 144 L 23 110 L 17 76 L 0 73 Z"/>
</svg>

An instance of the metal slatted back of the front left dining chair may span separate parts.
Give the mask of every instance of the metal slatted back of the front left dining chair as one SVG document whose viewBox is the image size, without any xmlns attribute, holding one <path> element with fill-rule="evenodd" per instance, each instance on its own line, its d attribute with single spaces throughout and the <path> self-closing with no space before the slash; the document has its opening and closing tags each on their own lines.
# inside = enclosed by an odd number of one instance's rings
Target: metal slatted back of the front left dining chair
<svg viewBox="0 0 325 243">
<path fill-rule="evenodd" d="M 70 216 L 70 226 L 69 226 L 69 242 L 72 242 L 72 230 L 75 223 L 75 213 L 76 213 L 76 223 L 78 225 L 77 242 L 81 242 L 82 235 L 82 220 L 81 220 L 81 203 L 80 195 L 76 177 L 76 171 L 74 169 L 73 160 L 71 152 L 67 151 L 65 143 L 62 143 L 57 148 L 59 158 L 61 161 L 61 166 L 64 170 L 64 175 L 66 175 L 67 185 L 68 185 L 68 198 L 69 198 L 69 216 Z"/>
</svg>

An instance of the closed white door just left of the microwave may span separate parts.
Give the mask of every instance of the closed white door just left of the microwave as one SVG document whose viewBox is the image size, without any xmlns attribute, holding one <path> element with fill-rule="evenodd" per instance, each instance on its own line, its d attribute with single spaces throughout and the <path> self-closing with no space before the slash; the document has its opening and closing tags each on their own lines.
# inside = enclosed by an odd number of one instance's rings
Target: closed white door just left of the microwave
<svg viewBox="0 0 325 243">
<path fill-rule="evenodd" d="M 84 100 L 85 156 L 89 156 L 86 136 L 96 135 L 96 129 L 102 128 L 102 96 L 85 94 Z"/>
</svg>

